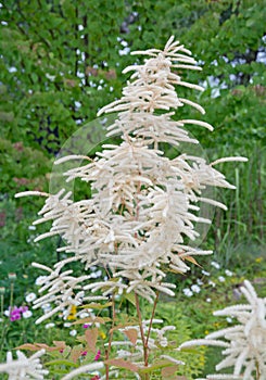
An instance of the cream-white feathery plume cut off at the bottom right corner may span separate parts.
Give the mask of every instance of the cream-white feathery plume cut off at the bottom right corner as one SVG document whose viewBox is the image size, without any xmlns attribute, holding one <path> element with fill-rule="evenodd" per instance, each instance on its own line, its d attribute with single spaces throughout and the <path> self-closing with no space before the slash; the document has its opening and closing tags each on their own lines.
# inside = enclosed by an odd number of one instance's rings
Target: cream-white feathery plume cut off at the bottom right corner
<svg viewBox="0 0 266 380">
<path fill-rule="evenodd" d="M 233 367 L 233 373 L 208 375 L 207 379 L 266 379 L 266 299 L 259 299 L 248 280 L 241 287 L 241 292 L 249 301 L 248 305 L 229 306 L 214 313 L 235 317 L 239 325 L 180 345 L 180 349 L 193 345 L 225 347 L 221 353 L 226 358 L 216 366 L 216 370 Z"/>
</svg>

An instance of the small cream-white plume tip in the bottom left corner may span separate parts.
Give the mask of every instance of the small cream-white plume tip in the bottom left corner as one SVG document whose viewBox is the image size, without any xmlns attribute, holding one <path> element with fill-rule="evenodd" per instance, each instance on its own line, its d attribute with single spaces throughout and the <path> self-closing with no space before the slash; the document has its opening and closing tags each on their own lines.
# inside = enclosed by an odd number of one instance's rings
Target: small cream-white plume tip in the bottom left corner
<svg viewBox="0 0 266 380">
<path fill-rule="evenodd" d="M 45 379 L 45 376 L 49 373 L 47 369 L 42 368 L 40 363 L 40 356 L 45 352 L 46 350 L 40 350 L 27 357 L 23 352 L 16 351 L 16 360 L 13 359 L 12 353 L 8 352 L 7 363 L 0 364 L 0 372 L 8 373 L 9 380 Z"/>
</svg>

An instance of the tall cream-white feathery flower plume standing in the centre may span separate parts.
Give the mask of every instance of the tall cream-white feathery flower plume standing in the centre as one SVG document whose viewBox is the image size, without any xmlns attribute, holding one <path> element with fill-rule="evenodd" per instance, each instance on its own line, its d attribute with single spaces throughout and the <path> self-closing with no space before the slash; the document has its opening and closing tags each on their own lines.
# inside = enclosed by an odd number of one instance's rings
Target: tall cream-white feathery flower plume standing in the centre
<svg viewBox="0 0 266 380">
<path fill-rule="evenodd" d="M 176 92 L 176 86 L 203 90 L 175 73 L 182 68 L 201 69 L 191 52 L 170 37 L 163 50 L 134 54 L 147 55 L 144 63 L 124 71 L 132 74 L 122 99 L 99 112 L 118 112 L 107 136 L 119 134 L 122 143 L 103 145 L 94 160 L 71 155 L 56 162 L 88 159 L 86 165 L 69 169 L 65 176 L 66 181 L 80 178 L 88 182 L 91 198 L 74 202 L 64 190 L 55 195 L 29 194 L 47 197 L 36 224 L 52 221 L 51 230 L 37 240 L 59 233 L 66 242 L 59 250 L 73 254 L 85 264 L 85 269 L 97 264 L 107 268 L 110 280 L 87 283 L 86 291 L 103 291 L 104 295 L 134 291 L 152 302 L 159 291 L 174 295 L 175 287 L 164 282 L 166 269 L 186 273 L 190 256 L 212 253 L 186 244 L 186 240 L 199 238 L 197 223 L 211 223 L 197 216 L 202 202 L 226 208 L 205 198 L 204 190 L 210 186 L 233 187 L 214 168 L 227 159 L 207 164 L 204 159 L 180 154 L 169 160 L 159 150 L 160 142 L 199 143 L 183 129 L 187 124 L 213 130 L 202 121 L 173 118 L 175 110 L 185 105 L 204 113 L 202 106 Z M 233 160 L 244 161 L 228 159 Z M 54 274 L 61 276 L 56 270 Z M 75 281 L 68 281 L 67 287 L 79 283 Z"/>
</svg>

